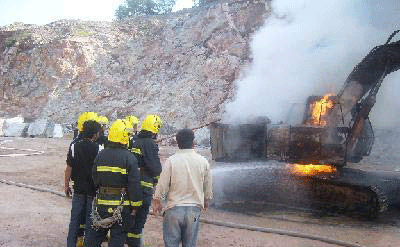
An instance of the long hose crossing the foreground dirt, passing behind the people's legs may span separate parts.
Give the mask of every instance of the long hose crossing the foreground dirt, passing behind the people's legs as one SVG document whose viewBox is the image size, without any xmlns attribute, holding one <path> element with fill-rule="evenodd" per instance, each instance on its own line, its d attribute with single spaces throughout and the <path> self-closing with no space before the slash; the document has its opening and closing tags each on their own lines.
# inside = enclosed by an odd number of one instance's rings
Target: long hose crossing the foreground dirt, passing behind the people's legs
<svg viewBox="0 0 400 247">
<path fill-rule="evenodd" d="M 41 187 L 27 185 L 27 184 L 23 184 L 23 183 L 17 183 L 17 182 L 13 182 L 13 181 L 4 180 L 4 179 L 0 179 L 0 183 L 14 185 L 14 186 L 23 187 L 23 188 L 29 188 L 29 189 L 40 191 L 40 192 L 48 192 L 48 193 L 52 193 L 52 194 L 55 194 L 58 196 L 65 197 L 64 193 L 59 192 L 59 191 L 54 191 L 51 189 L 47 189 L 47 188 L 41 188 Z M 156 217 L 158 216 L 153 213 L 151 213 L 151 214 Z M 202 222 L 204 224 L 223 226 L 223 227 L 229 227 L 229 228 L 234 228 L 234 229 L 242 229 L 242 230 L 248 230 L 248 231 L 256 231 L 256 232 L 278 234 L 278 235 L 289 236 L 289 237 L 316 240 L 316 241 L 320 241 L 320 242 L 324 242 L 324 243 L 328 243 L 328 244 L 335 244 L 337 246 L 343 246 L 343 247 L 362 247 L 362 245 L 359 245 L 359 244 L 348 243 L 345 241 L 331 239 L 331 238 L 327 238 L 327 237 L 316 236 L 316 235 L 294 232 L 294 231 L 288 231 L 288 230 L 282 230 L 282 229 L 265 228 L 265 227 L 237 224 L 237 223 L 225 222 L 225 221 L 219 221 L 219 220 L 201 219 L 201 218 L 200 218 L 200 222 Z"/>
</svg>

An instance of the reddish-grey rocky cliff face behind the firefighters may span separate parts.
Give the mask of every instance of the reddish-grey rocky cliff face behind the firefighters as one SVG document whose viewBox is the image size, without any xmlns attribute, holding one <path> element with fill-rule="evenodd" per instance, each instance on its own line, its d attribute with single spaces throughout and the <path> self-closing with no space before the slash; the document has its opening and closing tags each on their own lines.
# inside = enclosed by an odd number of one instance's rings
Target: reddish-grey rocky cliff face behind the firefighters
<svg viewBox="0 0 400 247">
<path fill-rule="evenodd" d="M 269 0 L 222 0 L 123 22 L 0 28 L 0 117 L 72 123 L 158 113 L 175 127 L 219 118 L 251 62 Z"/>
</svg>

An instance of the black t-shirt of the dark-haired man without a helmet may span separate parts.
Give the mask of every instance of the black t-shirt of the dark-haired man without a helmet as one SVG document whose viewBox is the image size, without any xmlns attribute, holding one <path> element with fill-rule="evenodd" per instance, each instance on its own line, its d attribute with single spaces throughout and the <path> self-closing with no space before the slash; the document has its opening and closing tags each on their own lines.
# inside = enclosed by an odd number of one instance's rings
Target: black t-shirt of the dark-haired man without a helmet
<svg viewBox="0 0 400 247">
<path fill-rule="evenodd" d="M 94 159 L 99 153 L 99 144 L 89 139 L 73 143 L 70 148 L 72 180 L 74 193 L 95 196 L 96 189 L 92 179 Z"/>
</svg>

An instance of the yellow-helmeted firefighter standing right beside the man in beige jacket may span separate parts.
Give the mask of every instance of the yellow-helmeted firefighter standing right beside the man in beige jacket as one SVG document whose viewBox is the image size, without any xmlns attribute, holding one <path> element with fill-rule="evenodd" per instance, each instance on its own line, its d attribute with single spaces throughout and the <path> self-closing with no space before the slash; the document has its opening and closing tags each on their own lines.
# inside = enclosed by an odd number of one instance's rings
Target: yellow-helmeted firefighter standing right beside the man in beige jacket
<svg viewBox="0 0 400 247">
<path fill-rule="evenodd" d="M 153 187 L 157 184 L 161 173 L 158 145 L 155 141 L 161 127 L 161 118 L 147 115 L 137 137 L 132 140 L 131 152 L 136 155 L 140 168 L 140 187 L 143 190 L 143 206 L 139 209 L 135 225 L 128 232 L 127 244 L 138 247 L 141 244 L 142 232 L 151 206 Z"/>
</svg>

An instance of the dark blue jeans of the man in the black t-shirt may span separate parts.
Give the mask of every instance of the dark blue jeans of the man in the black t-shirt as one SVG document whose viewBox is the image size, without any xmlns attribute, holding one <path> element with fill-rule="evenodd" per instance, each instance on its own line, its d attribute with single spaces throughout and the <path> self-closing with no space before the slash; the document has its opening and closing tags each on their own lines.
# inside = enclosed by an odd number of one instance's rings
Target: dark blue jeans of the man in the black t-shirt
<svg viewBox="0 0 400 247">
<path fill-rule="evenodd" d="M 90 213 L 92 212 L 93 197 L 83 194 L 74 194 L 72 197 L 71 220 L 69 222 L 67 247 L 76 247 L 76 240 L 82 219 L 89 221 Z"/>
</svg>

